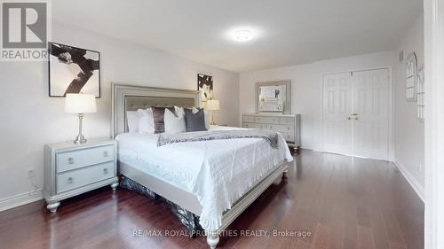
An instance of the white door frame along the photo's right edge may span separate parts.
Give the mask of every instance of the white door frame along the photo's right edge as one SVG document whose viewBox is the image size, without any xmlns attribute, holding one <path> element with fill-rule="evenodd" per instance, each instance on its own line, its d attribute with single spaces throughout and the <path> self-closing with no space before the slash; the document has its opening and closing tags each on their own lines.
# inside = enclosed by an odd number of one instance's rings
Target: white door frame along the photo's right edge
<svg viewBox="0 0 444 249">
<path fill-rule="evenodd" d="M 444 248 L 444 3 L 424 0 L 424 248 Z"/>
</svg>

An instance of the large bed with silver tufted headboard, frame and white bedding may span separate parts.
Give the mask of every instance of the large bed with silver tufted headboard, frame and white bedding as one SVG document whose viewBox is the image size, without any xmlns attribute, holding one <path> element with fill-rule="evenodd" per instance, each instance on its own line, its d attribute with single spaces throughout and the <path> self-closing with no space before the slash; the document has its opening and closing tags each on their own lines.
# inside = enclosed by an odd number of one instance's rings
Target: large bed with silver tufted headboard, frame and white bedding
<svg viewBox="0 0 444 249">
<path fill-rule="evenodd" d="M 283 177 L 287 163 L 293 160 L 281 135 L 278 149 L 260 138 L 158 147 L 155 134 L 127 132 L 127 111 L 149 106 L 199 106 L 198 91 L 113 83 L 112 102 L 119 173 L 198 216 L 210 248 L 218 245 L 219 231 L 225 230 L 269 185 Z"/>
</svg>

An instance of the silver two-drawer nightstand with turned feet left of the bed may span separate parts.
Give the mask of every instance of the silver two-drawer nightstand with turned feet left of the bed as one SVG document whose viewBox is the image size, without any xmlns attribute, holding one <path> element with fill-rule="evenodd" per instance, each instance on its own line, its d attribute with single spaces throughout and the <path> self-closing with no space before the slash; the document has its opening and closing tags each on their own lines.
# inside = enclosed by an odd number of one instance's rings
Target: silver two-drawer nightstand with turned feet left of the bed
<svg viewBox="0 0 444 249">
<path fill-rule="evenodd" d="M 92 138 L 85 144 L 67 141 L 44 145 L 44 199 L 52 213 L 60 201 L 86 191 L 118 186 L 116 143 Z"/>
</svg>

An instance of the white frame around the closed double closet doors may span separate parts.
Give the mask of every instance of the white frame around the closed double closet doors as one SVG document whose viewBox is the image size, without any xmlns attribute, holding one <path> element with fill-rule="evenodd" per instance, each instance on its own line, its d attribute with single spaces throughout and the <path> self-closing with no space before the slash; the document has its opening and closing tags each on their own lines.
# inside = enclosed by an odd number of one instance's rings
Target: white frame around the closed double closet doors
<svg viewBox="0 0 444 249">
<path fill-rule="evenodd" d="M 320 97 L 320 105 L 321 105 L 321 113 L 319 120 L 321 121 L 320 125 L 320 134 L 321 134 L 321 152 L 325 152 L 324 150 L 324 144 L 325 144 L 325 135 L 324 135 L 324 77 L 329 74 L 345 74 L 345 73 L 352 73 L 352 72 L 361 72 L 361 71 L 372 71 L 372 70 L 380 70 L 380 69 L 387 69 L 389 72 L 389 85 L 388 85 L 388 108 L 389 111 L 387 113 L 387 121 L 388 121 L 388 152 L 387 152 L 387 161 L 393 161 L 394 160 L 394 124 L 393 124 L 393 108 L 394 108 L 394 84 L 393 84 L 393 70 L 392 66 L 373 66 L 373 67 L 364 67 L 364 68 L 357 68 L 357 69 L 350 69 L 350 70 L 344 70 L 344 71 L 336 71 L 336 72 L 327 72 L 327 73 L 321 73 L 321 79 L 320 79 L 320 88 L 321 88 L 321 97 Z M 353 156 L 353 155 L 347 155 L 347 156 Z"/>
</svg>

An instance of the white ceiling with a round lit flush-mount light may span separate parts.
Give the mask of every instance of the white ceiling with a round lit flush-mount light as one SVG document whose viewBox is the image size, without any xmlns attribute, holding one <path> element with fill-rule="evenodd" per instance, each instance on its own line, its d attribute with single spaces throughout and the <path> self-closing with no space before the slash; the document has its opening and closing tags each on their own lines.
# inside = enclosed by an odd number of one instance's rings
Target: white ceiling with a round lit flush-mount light
<svg viewBox="0 0 444 249">
<path fill-rule="evenodd" d="M 53 19 L 234 72 L 392 50 L 422 0 L 57 0 Z M 234 28 L 256 37 L 232 41 Z"/>
</svg>

